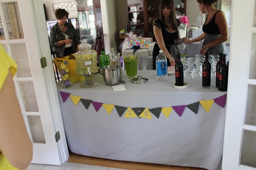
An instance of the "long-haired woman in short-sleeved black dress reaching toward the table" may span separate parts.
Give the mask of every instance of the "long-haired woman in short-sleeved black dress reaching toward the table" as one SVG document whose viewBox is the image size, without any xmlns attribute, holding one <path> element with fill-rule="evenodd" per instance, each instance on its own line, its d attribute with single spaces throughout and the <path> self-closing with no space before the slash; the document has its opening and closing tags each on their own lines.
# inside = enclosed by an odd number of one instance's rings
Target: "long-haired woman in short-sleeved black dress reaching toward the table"
<svg viewBox="0 0 256 170">
<path fill-rule="evenodd" d="M 156 57 L 162 49 L 167 57 L 167 65 L 175 65 L 174 56 L 170 54 L 170 48 L 175 39 L 180 38 L 180 22 L 176 18 L 175 5 L 173 0 L 161 0 L 159 4 L 159 16 L 153 23 L 154 36 L 156 43 L 153 49 L 153 70 L 156 69 Z"/>
</svg>

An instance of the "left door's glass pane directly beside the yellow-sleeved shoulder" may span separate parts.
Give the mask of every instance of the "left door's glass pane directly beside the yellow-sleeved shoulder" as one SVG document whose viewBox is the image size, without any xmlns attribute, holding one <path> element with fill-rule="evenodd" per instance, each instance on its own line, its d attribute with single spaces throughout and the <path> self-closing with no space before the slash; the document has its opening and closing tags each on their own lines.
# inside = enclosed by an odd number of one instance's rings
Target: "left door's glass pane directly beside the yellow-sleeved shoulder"
<svg viewBox="0 0 256 170">
<path fill-rule="evenodd" d="M 13 58 L 17 62 L 17 75 L 19 78 L 31 77 L 30 65 L 26 44 L 12 44 Z"/>
</svg>

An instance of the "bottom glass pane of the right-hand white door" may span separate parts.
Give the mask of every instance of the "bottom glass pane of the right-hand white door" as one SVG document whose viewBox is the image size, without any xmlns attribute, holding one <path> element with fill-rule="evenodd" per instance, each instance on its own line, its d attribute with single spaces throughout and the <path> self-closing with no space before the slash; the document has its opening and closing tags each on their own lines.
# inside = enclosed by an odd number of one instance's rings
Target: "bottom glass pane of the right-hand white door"
<svg viewBox="0 0 256 170">
<path fill-rule="evenodd" d="M 256 167 L 256 132 L 244 130 L 241 164 Z"/>
</svg>

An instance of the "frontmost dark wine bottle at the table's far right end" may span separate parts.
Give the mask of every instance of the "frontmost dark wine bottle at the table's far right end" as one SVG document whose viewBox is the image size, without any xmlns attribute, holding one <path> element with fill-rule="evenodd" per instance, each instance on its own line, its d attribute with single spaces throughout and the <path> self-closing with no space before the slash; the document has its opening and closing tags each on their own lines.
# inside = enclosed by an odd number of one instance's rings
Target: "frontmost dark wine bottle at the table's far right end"
<svg viewBox="0 0 256 170">
<path fill-rule="evenodd" d="M 226 55 L 222 55 L 222 63 L 219 70 L 219 90 L 227 91 L 228 89 L 228 66 L 226 64 Z"/>
</svg>

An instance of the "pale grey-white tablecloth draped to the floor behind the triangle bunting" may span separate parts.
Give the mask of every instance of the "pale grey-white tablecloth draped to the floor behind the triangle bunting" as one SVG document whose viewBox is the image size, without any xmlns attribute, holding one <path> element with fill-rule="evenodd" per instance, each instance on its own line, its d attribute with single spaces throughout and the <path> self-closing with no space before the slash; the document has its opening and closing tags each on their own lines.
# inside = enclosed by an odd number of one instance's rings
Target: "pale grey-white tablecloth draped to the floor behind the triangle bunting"
<svg viewBox="0 0 256 170">
<path fill-rule="evenodd" d="M 94 88 L 80 88 L 80 83 L 68 89 L 57 83 L 57 87 L 58 91 L 98 103 L 149 109 L 189 105 L 226 94 L 217 88 L 202 89 L 198 84 L 175 89 L 174 75 L 161 82 L 150 73 L 139 73 L 149 79 L 144 84 L 133 84 L 124 74 L 124 91 L 113 91 L 100 74 L 92 79 L 99 83 Z M 76 154 L 206 169 L 217 169 L 221 160 L 226 109 L 216 103 L 209 113 L 200 105 L 197 114 L 186 107 L 181 117 L 173 110 L 168 118 L 161 113 L 159 118 L 151 114 L 153 119 L 148 119 L 124 118 L 125 112 L 119 117 L 115 108 L 108 115 L 103 106 L 97 112 L 92 104 L 86 109 L 81 101 L 75 106 L 70 97 L 63 103 L 60 93 L 59 101 L 68 147 Z"/>
</svg>

